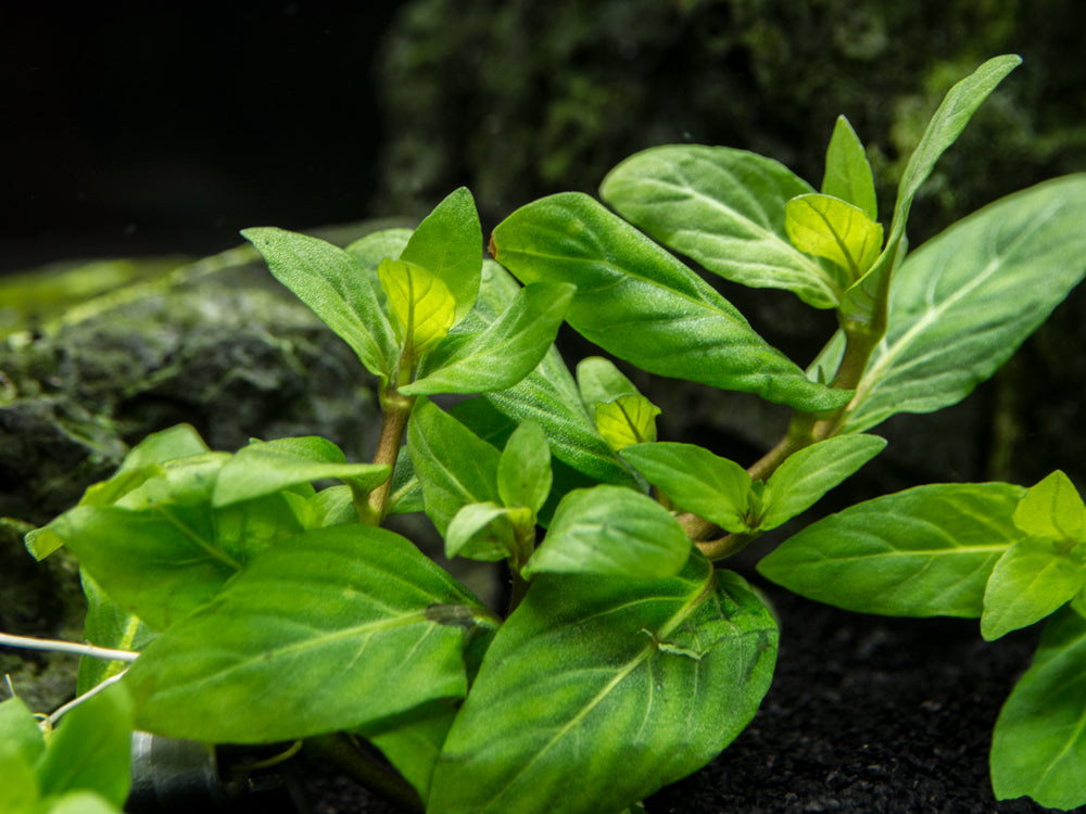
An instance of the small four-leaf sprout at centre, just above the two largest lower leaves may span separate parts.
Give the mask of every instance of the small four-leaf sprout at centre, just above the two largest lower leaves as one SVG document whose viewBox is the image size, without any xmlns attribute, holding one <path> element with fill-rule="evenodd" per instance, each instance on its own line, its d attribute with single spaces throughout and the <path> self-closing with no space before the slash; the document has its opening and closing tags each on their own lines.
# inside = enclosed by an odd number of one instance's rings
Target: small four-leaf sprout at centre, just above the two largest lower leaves
<svg viewBox="0 0 1086 814">
<path fill-rule="evenodd" d="M 597 485 L 564 495 L 532 554 L 539 510 L 551 488 L 546 438 L 521 424 L 500 451 L 451 415 L 420 402 L 407 431 L 426 512 L 446 554 L 510 559 L 526 578 L 541 573 L 670 576 L 690 556 L 679 523 L 634 489 Z"/>
</svg>

